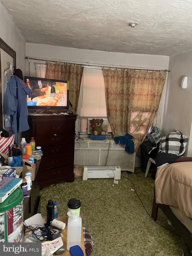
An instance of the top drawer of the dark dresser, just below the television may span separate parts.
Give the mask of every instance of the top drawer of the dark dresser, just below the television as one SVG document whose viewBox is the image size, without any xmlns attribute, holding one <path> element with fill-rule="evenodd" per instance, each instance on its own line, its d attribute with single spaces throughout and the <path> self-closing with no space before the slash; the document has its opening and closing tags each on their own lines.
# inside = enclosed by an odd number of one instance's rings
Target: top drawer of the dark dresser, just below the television
<svg viewBox="0 0 192 256">
<path fill-rule="evenodd" d="M 59 134 L 75 130 L 75 122 L 48 122 L 35 124 L 36 135 Z"/>
</svg>

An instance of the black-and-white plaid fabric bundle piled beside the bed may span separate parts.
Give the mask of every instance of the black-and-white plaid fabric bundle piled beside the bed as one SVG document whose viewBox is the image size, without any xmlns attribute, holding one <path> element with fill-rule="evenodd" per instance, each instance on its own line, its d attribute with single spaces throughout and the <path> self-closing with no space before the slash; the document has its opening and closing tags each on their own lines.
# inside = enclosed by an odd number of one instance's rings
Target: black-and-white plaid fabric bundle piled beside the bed
<svg viewBox="0 0 192 256">
<path fill-rule="evenodd" d="M 187 145 L 188 138 L 178 130 L 173 130 L 165 137 L 156 141 L 159 145 L 158 152 L 179 155 Z"/>
</svg>

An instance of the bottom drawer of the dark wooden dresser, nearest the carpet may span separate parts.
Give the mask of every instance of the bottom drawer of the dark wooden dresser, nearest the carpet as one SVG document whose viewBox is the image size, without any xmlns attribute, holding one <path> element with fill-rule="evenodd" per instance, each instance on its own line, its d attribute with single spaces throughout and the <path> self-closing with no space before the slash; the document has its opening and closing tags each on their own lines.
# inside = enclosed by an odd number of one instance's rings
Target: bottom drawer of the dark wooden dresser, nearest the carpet
<svg viewBox="0 0 192 256">
<path fill-rule="evenodd" d="M 73 174 L 73 164 L 67 166 L 61 166 L 58 168 L 53 168 L 50 170 L 43 170 L 39 172 L 39 182 L 44 185 L 46 183 L 54 184 L 57 182 L 61 182 L 68 178 L 67 176 L 72 176 L 74 181 L 74 174 Z M 50 182 L 51 181 L 51 182 Z M 48 184 L 46 184 L 48 185 Z"/>
</svg>

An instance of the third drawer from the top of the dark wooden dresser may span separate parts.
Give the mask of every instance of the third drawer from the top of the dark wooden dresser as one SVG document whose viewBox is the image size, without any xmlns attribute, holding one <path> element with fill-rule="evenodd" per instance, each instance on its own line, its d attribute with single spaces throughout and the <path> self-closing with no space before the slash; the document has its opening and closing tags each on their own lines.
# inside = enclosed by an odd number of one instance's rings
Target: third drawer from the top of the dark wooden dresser
<svg viewBox="0 0 192 256">
<path fill-rule="evenodd" d="M 52 146 L 43 146 L 43 157 L 52 157 L 55 155 L 61 155 L 66 153 L 71 153 L 74 151 L 73 143 L 65 143 L 65 144 L 58 144 Z"/>
</svg>

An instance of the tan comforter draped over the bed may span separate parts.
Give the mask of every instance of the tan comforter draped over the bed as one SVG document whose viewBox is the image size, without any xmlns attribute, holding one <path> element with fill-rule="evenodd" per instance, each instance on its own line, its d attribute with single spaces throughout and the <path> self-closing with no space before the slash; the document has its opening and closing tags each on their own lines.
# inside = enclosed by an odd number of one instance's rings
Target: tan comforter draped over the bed
<svg viewBox="0 0 192 256">
<path fill-rule="evenodd" d="M 159 168 L 155 177 L 156 203 L 179 209 L 192 218 L 192 162 Z"/>
</svg>

